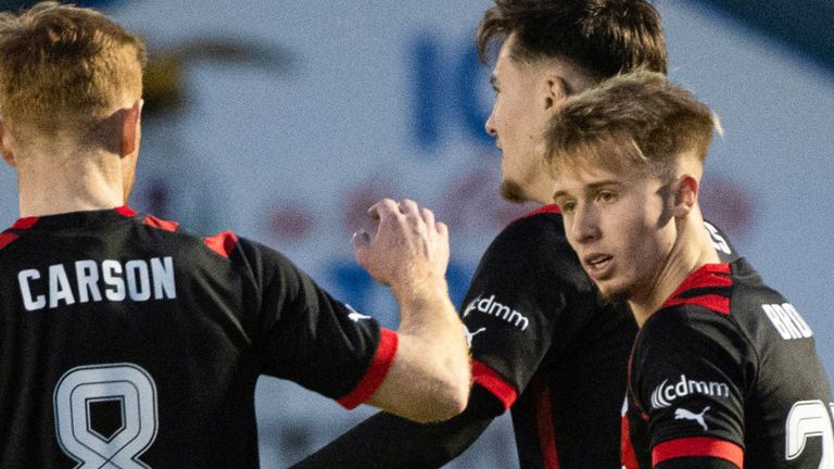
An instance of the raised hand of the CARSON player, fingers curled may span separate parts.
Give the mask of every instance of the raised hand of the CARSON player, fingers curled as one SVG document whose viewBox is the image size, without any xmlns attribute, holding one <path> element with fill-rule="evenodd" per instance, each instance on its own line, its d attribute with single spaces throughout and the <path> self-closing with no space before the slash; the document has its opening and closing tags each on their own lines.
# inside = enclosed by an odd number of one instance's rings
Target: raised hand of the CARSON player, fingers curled
<svg viewBox="0 0 834 469">
<path fill-rule="evenodd" d="M 353 236 L 356 259 L 394 295 L 412 294 L 424 283 L 442 280 L 448 266 L 448 228 L 434 214 L 408 199 L 383 199 L 368 210 L 377 232 Z"/>
</svg>

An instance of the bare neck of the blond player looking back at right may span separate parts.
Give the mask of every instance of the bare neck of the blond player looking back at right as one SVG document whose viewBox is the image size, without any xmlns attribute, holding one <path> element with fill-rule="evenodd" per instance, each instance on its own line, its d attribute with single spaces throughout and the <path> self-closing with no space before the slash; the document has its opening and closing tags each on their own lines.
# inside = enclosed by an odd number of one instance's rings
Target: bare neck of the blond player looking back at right
<svg viewBox="0 0 834 469">
<path fill-rule="evenodd" d="M 704 228 L 704 218 L 699 211 L 693 210 L 688 216 L 675 224 L 679 236 L 672 244 L 662 269 L 645 292 L 629 299 L 631 310 L 641 327 L 660 309 L 693 271 L 706 264 L 720 262 L 712 241 Z"/>
</svg>

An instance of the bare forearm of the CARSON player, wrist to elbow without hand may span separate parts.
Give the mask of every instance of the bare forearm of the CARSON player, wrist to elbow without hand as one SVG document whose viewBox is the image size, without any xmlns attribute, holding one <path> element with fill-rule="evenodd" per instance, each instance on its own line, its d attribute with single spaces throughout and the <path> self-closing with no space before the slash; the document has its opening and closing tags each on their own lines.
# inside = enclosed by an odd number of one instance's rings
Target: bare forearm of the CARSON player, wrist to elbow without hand
<svg viewBox="0 0 834 469">
<path fill-rule="evenodd" d="M 391 369 L 368 402 L 421 422 L 459 414 L 469 395 L 469 354 L 463 325 L 442 279 L 395 292 L 400 344 Z"/>
</svg>

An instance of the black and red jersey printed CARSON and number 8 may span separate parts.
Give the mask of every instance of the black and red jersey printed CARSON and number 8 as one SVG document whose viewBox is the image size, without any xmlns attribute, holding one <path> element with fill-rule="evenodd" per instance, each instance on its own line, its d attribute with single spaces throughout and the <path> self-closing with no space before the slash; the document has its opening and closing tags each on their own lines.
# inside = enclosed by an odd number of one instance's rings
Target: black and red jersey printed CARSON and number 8
<svg viewBox="0 0 834 469">
<path fill-rule="evenodd" d="M 0 233 L 0 467 L 256 468 L 255 381 L 353 407 L 395 332 L 281 254 L 128 207 Z"/>
</svg>

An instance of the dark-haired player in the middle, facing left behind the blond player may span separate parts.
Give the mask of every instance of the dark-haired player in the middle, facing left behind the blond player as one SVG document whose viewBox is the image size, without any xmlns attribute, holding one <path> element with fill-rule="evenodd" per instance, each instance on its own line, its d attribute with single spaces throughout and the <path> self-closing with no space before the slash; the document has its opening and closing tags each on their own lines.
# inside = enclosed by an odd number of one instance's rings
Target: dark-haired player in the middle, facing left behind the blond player
<svg viewBox="0 0 834 469">
<path fill-rule="evenodd" d="M 666 73 L 660 17 L 644 0 L 497 0 L 479 26 L 482 59 L 501 43 L 486 131 L 503 153 L 502 194 L 540 210 L 504 229 L 460 305 L 472 355 L 463 415 L 414 424 L 378 414 L 295 468 L 437 468 L 510 410 L 522 469 L 620 469 L 621 409 L 636 325 L 598 301 L 565 238 L 542 153 L 565 99 L 639 66 Z M 708 227 L 722 255 L 723 236 Z"/>
</svg>

